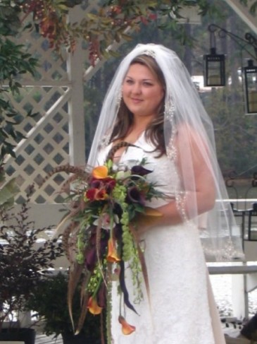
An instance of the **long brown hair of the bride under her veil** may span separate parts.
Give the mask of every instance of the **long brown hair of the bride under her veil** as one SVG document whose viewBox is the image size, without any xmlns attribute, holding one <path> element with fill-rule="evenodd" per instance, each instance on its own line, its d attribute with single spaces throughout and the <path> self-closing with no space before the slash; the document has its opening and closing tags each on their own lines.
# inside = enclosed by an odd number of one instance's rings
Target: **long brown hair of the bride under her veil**
<svg viewBox="0 0 257 344">
<path fill-rule="evenodd" d="M 165 78 L 163 76 L 163 72 L 161 71 L 160 67 L 156 63 L 155 59 L 149 57 L 148 55 L 139 55 L 132 59 L 130 66 L 132 64 L 142 64 L 149 68 L 151 73 L 156 76 L 158 82 L 163 87 L 164 93 L 166 89 Z M 160 152 L 161 156 L 165 153 L 165 142 L 164 142 L 164 134 L 163 134 L 163 114 L 164 114 L 164 99 L 165 95 L 163 96 L 163 101 L 158 110 L 158 114 L 156 117 L 151 121 L 151 123 L 146 127 L 146 138 L 153 143 L 155 146 L 154 151 Z M 118 115 L 116 119 L 116 123 L 113 129 L 113 134 L 111 135 L 111 141 L 114 140 L 123 140 L 130 128 L 133 124 L 133 114 L 127 109 L 125 102 L 121 100 L 120 102 L 120 109 L 118 110 Z"/>
</svg>

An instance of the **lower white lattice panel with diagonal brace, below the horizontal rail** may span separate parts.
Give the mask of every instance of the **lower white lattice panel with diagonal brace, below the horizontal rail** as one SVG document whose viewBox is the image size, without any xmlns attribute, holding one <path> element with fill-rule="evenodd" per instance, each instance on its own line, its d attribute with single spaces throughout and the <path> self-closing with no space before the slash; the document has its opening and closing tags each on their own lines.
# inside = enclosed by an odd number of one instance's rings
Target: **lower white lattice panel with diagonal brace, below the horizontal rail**
<svg viewBox="0 0 257 344">
<path fill-rule="evenodd" d="M 23 93 L 27 88 L 24 88 Z M 17 158 L 9 161 L 6 169 L 10 177 L 15 174 L 21 193 L 18 201 L 22 201 L 24 192 L 32 183 L 39 184 L 47 172 L 58 165 L 69 162 L 70 137 L 68 131 L 69 89 L 61 87 L 40 88 L 44 104 L 35 105 L 33 110 L 40 107 L 39 114 L 34 118 L 23 121 L 20 131 L 27 139 L 20 141 L 17 148 Z M 35 88 L 33 88 L 35 90 Z M 33 92 L 26 94 L 25 104 L 32 104 Z M 42 114 L 42 107 L 51 107 Z M 44 187 L 35 189 L 33 200 L 36 203 L 60 202 L 62 198 L 56 191 L 60 189 L 63 180 L 61 175 L 50 179 Z"/>
</svg>

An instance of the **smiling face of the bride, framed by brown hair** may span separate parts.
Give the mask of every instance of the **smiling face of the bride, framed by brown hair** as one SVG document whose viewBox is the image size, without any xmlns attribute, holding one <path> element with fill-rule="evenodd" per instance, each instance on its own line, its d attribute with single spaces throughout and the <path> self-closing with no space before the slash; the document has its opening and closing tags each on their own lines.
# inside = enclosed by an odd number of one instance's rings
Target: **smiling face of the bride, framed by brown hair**
<svg viewBox="0 0 257 344">
<path fill-rule="evenodd" d="M 163 87 L 148 67 L 130 66 L 123 82 L 123 100 L 134 116 L 155 117 L 163 96 Z"/>
</svg>

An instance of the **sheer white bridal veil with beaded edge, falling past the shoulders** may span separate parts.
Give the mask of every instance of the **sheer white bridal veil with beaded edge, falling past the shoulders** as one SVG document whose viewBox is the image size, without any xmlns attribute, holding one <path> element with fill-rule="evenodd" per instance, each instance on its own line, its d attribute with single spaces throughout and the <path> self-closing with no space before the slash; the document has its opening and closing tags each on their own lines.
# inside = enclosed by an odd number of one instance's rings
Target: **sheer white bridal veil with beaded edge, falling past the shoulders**
<svg viewBox="0 0 257 344">
<path fill-rule="evenodd" d="M 132 59 L 141 54 L 153 57 L 165 78 L 163 129 L 166 152 L 170 159 L 175 159 L 177 153 L 182 155 L 180 179 L 183 188 L 175 191 L 177 207 L 185 221 L 187 218 L 194 219 L 199 226 L 203 249 L 208 259 L 242 259 L 244 257 L 242 233 L 235 224 L 225 183 L 218 166 L 212 121 L 202 105 L 187 69 L 172 50 L 162 45 L 137 45 L 120 63 L 104 99 L 88 163 L 95 165 L 99 148 L 109 143 L 120 105 L 123 79 Z M 183 135 L 177 136 L 177 130 L 181 124 L 184 124 Z M 192 154 L 194 154 L 191 144 L 192 131 L 196 135 L 196 145 L 201 151 L 202 158 L 213 174 L 216 191 L 214 208 L 201 216 L 198 216 L 196 196 L 192 192 L 196 191 L 196 177 L 192 164 Z M 174 145 L 174 140 L 176 140 L 176 145 Z M 187 191 L 190 191 L 190 196 Z M 187 216 L 184 211 L 186 203 L 190 203 Z"/>
</svg>

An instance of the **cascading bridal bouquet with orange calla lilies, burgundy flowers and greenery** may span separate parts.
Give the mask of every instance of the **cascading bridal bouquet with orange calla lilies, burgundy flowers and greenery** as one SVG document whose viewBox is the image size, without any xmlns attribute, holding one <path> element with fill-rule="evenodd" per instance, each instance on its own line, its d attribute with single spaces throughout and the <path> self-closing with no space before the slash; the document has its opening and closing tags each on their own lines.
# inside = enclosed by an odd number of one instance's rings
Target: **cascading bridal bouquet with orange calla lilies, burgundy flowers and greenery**
<svg viewBox="0 0 257 344">
<path fill-rule="evenodd" d="M 118 280 L 125 306 L 137 313 L 126 287 L 125 267 L 132 271 L 137 302 L 143 297 L 142 276 L 149 293 L 144 251 L 137 235 L 137 218 L 139 215 L 160 216 L 157 210 L 146 207 L 146 201 L 165 195 L 156 190 L 156 184 L 147 180 L 151 170 L 146 169 L 146 163 L 143 159 L 129 167 L 107 160 L 92 172 L 80 170 L 77 173 L 75 167 L 75 170 L 67 169 L 75 173 L 75 178 L 71 178 L 74 183 L 71 193 L 73 210 L 65 218 L 71 222 L 63 232 L 63 247 L 70 260 L 68 307 L 71 318 L 75 287 L 78 283 L 82 285 L 77 332 L 82 328 L 87 312 L 102 314 L 103 309 L 107 309 L 107 336 L 110 338 L 113 280 Z M 125 321 L 121 307 L 118 321 L 124 334 L 135 331 L 135 327 Z"/>
</svg>

